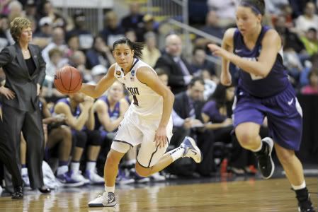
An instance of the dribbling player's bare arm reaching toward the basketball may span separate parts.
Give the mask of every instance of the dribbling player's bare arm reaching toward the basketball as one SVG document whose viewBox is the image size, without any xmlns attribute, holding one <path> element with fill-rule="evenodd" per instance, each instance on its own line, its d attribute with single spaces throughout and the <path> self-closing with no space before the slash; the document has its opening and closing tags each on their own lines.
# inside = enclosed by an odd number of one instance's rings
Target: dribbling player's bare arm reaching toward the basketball
<svg viewBox="0 0 318 212">
<path fill-rule="evenodd" d="M 101 80 L 98 81 L 96 86 L 83 83 L 83 85 L 81 86 L 81 90 L 79 90 L 79 92 L 85 93 L 86 95 L 89 95 L 92 98 L 100 97 L 115 82 L 116 78 L 114 76 L 114 71 L 115 64 L 110 66 L 108 72 L 106 73 L 106 76 L 101 78 Z"/>
</svg>

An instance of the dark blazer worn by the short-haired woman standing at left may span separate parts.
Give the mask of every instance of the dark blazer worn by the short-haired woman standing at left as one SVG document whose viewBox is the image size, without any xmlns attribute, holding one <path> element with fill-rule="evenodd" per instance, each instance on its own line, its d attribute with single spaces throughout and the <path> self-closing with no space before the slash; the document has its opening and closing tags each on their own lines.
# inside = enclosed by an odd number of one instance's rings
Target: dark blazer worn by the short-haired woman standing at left
<svg viewBox="0 0 318 212">
<path fill-rule="evenodd" d="M 28 48 L 36 68 L 31 76 L 17 43 L 5 47 L 0 53 L 0 67 L 6 74 L 4 86 L 16 93 L 13 100 L 2 96 L 1 102 L 22 111 L 33 111 L 38 107 L 37 84 L 42 85 L 45 78 L 45 61 L 40 48 L 30 44 Z"/>
</svg>

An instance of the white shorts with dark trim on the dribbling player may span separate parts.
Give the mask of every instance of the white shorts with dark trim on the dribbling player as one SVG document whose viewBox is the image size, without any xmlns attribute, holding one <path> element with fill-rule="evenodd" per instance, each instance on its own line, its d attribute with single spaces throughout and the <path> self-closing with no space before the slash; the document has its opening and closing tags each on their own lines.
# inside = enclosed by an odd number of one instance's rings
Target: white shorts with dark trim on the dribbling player
<svg viewBox="0 0 318 212">
<path fill-rule="evenodd" d="M 172 119 L 166 126 L 167 143 L 159 148 L 154 142 L 154 136 L 160 120 L 142 119 L 138 114 L 127 111 L 125 118 L 120 122 L 118 132 L 113 140 L 111 148 L 120 153 L 127 153 L 131 148 L 141 143 L 137 155 L 137 163 L 142 167 L 152 167 L 166 153 L 172 137 Z"/>
</svg>

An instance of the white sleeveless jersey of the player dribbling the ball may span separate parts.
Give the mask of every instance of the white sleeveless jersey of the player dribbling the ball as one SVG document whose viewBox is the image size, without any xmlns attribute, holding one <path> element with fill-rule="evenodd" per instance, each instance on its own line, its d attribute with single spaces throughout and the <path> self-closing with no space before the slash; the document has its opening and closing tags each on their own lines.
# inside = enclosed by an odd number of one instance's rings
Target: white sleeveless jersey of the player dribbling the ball
<svg viewBox="0 0 318 212">
<path fill-rule="evenodd" d="M 154 71 L 151 66 L 140 59 L 134 59 L 132 68 L 128 73 L 124 73 L 118 64 L 115 64 L 114 76 L 123 83 L 123 86 L 132 95 L 133 100 L 130 109 L 136 112 L 141 118 L 160 119 L 163 107 L 163 98 L 149 88 L 146 84 L 140 82 L 137 78 L 137 71 L 140 67 L 147 66 Z M 156 73 L 156 71 L 154 71 Z M 157 73 L 156 73 L 157 74 Z"/>
</svg>

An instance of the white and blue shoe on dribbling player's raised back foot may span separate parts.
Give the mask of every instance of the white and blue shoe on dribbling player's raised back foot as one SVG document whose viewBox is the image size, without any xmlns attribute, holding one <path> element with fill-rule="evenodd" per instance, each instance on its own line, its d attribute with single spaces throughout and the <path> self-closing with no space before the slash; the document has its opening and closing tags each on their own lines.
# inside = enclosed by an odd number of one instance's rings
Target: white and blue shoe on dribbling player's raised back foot
<svg viewBox="0 0 318 212">
<path fill-rule="evenodd" d="M 183 158 L 192 158 L 195 163 L 201 163 L 203 158 L 202 153 L 190 136 L 186 136 L 180 146 L 184 148 Z"/>
</svg>

